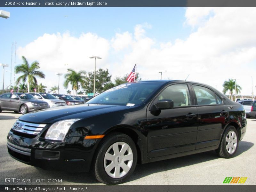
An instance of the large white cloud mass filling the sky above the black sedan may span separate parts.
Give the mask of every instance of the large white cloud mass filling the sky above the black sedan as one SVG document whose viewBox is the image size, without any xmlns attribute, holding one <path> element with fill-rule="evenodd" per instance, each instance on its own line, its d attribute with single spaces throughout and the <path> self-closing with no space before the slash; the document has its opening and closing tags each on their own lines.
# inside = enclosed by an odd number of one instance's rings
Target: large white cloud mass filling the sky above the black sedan
<svg viewBox="0 0 256 192">
<path fill-rule="evenodd" d="M 93 62 L 88 57 L 99 55 L 103 59 L 97 61 L 97 68 L 108 68 L 113 79 L 130 73 L 137 63 L 137 71 L 145 80 L 159 79 L 159 71 L 164 79 L 184 80 L 190 74 L 188 80 L 222 90 L 225 80 L 236 78 L 242 94 L 251 94 L 251 76 L 256 82 L 256 8 L 187 8 L 185 18 L 193 32 L 187 39 L 174 42 L 149 38 L 146 32 L 151 26 L 144 23 L 113 34 L 111 39 L 92 33 L 78 38 L 69 33 L 44 34 L 19 48 L 18 53 L 38 60 L 53 82 L 57 78 L 50 71 L 92 71 Z M 171 27 L 163 26 L 163 30 Z"/>
</svg>

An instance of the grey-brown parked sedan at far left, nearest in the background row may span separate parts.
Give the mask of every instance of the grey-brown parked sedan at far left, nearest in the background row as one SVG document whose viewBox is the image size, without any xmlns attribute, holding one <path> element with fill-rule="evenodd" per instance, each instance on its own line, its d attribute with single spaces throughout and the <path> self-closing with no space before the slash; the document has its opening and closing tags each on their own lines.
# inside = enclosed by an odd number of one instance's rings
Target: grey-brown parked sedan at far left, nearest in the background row
<svg viewBox="0 0 256 192">
<path fill-rule="evenodd" d="M 0 95 L 0 112 L 7 110 L 25 114 L 46 108 L 50 108 L 47 102 L 38 100 L 28 93 L 4 93 Z"/>
</svg>

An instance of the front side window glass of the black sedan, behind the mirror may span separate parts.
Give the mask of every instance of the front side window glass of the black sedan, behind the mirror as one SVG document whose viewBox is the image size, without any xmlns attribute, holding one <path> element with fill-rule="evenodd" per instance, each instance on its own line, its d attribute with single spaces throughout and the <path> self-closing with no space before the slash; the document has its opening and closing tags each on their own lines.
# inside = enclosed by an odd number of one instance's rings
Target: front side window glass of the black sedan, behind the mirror
<svg viewBox="0 0 256 192">
<path fill-rule="evenodd" d="M 189 106 L 190 103 L 190 96 L 188 92 L 188 85 L 187 84 L 174 84 L 166 87 L 164 91 L 162 91 L 158 97 L 156 98 L 155 102 L 159 100 L 173 100 L 173 107 L 180 107 L 180 106 Z"/>
</svg>

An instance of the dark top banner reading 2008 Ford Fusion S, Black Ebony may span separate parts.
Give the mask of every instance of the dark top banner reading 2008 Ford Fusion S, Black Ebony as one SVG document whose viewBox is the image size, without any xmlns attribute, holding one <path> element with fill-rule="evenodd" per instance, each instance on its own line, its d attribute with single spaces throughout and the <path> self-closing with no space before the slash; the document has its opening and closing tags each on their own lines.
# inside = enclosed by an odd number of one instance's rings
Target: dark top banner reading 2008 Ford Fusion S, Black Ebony
<svg viewBox="0 0 256 192">
<path fill-rule="evenodd" d="M 0 7 L 256 7 L 255 0 L 1 0 Z"/>
</svg>

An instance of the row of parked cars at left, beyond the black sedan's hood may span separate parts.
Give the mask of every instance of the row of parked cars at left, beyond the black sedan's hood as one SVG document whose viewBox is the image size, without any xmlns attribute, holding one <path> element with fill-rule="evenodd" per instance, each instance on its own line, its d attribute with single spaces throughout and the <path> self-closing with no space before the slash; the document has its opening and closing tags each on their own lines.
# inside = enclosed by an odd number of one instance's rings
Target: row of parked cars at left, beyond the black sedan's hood
<svg viewBox="0 0 256 192">
<path fill-rule="evenodd" d="M 61 94 L 49 94 L 41 92 L 29 93 L 4 93 L 0 95 L 0 112 L 2 110 L 14 111 L 15 113 L 26 114 L 65 105 L 84 104 L 82 98 Z"/>
</svg>

